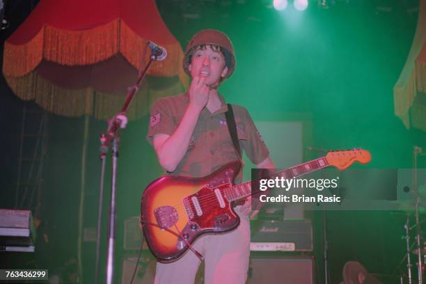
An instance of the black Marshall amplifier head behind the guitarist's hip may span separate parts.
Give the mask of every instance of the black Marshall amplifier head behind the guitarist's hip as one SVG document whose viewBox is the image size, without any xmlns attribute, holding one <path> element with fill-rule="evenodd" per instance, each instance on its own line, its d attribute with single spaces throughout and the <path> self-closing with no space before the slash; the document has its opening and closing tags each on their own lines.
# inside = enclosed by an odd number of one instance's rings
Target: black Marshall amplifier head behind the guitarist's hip
<svg viewBox="0 0 426 284">
<path fill-rule="evenodd" d="M 312 221 L 252 221 L 250 250 L 313 251 Z"/>
</svg>

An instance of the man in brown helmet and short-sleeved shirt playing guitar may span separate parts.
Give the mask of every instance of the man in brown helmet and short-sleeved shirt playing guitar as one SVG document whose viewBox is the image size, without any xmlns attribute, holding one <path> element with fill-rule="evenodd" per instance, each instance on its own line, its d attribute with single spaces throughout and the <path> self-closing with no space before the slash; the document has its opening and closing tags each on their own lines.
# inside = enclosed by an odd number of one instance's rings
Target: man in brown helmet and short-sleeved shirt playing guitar
<svg viewBox="0 0 426 284">
<path fill-rule="evenodd" d="M 216 30 L 203 30 L 189 42 L 184 70 L 191 76 L 186 93 L 157 100 L 152 107 L 148 141 L 168 174 L 200 178 L 239 159 L 228 131 L 228 107 L 217 88 L 235 70 L 229 38 Z M 248 111 L 232 107 L 237 136 L 246 155 L 258 168 L 274 168 L 269 150 Z M 236 182 L 241 182 L 239 173 Z M 205 260 L 205 283 L 245 283 L 250 254 L 248 214 L 251 200 L 235 207 L 238 228 L 221 235 L 204 235 L 194 248 Z M 255 214 L 255 212 L 253 213 Z M 253 216 L 252 214 L 252 216 Z M 191 251 L 180 260 L 157 263 L 155 283 L 194 283 L 200 260 Z"/>
</svg>

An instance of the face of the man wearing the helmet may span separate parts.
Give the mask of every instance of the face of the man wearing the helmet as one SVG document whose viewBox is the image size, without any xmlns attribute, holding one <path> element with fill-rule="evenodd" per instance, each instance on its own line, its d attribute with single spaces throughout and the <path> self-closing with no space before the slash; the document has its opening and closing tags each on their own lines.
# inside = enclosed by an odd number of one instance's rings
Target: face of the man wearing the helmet
<svg viewBox="0 0 426 284">
<path fill-rule="evenodd" d="M 205 49 L 194 52 L 188 70 L 191 78 L 205 77 L 205 84 L 217 86 L 221 77 L 226 76 L 228 67 L 225 66 L 225 58 L 221 52 L 215 52 L 210 45 L 205 45 Z"/>
</svg>

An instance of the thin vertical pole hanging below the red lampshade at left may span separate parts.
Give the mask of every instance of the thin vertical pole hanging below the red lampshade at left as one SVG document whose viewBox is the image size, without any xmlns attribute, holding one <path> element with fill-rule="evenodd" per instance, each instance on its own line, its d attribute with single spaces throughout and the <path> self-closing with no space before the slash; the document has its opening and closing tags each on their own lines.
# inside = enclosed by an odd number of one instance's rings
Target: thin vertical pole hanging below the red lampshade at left
<svg viewBox="0 0 426 284">
<path fill-rule="evenodd" d="M 81 264 L 81 245 L 83 242 L 83 221 L 84 221 L 84 196 L 86 194 L 86 161 L 88 148 L 89 117 L 84 117 L 83 149 L 81 151 L 81 184 L 80 184 L 80 204 L 79 204 L 79 233 L 77 239 L 77 269 L 79 282 L 83 282 L 83 265 Z"/>
</svg>

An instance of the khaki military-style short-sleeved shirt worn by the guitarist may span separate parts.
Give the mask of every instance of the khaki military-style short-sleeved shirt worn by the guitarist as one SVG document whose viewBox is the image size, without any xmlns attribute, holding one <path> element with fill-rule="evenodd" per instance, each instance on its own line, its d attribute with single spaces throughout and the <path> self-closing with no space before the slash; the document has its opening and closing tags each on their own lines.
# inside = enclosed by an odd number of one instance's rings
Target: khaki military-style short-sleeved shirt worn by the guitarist
<svg viewBox="0 0 426 284">
<path fill-rule="evenodd" d="M 214 113 L 204 108 L 191 136 L 191 141 L 182 161 L 169 175 L 184 175 L 200 178 L 216 171 L 230 161 L 239 160 L 226 125 L 225 113 L 228 111 L 223 97 L 219 95 L 222 106 Z M 152 144 L 155 134 L 171 135 L 178 128 L 189 105 L 189 93 L 165 97 L 152 106 L 147 140 Z M 253 164 L 259 164 L 269 157 L 269 150 L 244 107 L 232 104 L 237 135 L 247 157 Z M 237 180 L 241 180 L 237 178 Z M 237 181 L 237 182 L 239 182 Z"/>
</svg>

